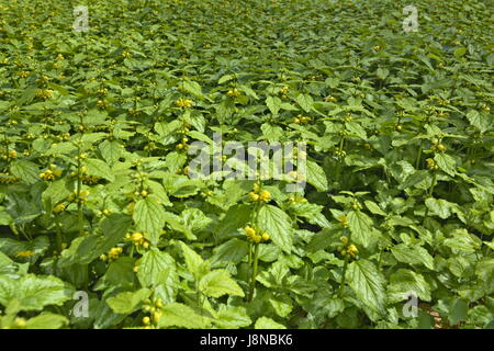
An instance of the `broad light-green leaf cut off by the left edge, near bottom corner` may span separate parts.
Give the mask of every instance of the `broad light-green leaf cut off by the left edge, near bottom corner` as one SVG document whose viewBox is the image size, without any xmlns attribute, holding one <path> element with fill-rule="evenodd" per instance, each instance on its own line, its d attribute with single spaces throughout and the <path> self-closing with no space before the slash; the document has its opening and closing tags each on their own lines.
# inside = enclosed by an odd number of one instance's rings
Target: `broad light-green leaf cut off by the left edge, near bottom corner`
<svg viewBox="0 0 494 351">
<path fill-rule="evenodd" d="M 55 276 L 26 274 L 20 279 L 0 275 L 0 304 L 20 302 L 20 310 L 42 310 L 48 305 L 61 306 L 72 296 L 72 290 Z"/>
</svg>

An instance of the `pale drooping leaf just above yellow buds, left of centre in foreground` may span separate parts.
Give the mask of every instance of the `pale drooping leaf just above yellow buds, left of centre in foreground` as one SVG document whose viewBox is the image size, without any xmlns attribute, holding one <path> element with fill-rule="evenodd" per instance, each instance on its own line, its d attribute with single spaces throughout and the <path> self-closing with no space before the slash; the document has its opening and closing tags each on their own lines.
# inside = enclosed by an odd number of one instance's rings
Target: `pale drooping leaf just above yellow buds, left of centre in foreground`
<svg viewBox="0 0 494 351">
<path fill-rule="evenodd" d="M 154 195 L 137 201 L 132 217 L 137 226 L 137 230 L 143 231 L 144 236 L 153 245 L 158 244 L 166 217 L 165 208 L 160 201 Z"/>
</svg>

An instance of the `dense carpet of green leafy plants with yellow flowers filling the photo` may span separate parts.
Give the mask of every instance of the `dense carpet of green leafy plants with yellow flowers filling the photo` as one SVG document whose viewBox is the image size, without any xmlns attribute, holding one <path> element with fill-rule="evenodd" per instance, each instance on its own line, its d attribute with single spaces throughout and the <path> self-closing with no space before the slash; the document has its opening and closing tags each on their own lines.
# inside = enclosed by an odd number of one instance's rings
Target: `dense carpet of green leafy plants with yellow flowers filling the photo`
<svg viewBox="0 0 494 351">
<path fill-rule="evenodd" d="M 0 0 L 0 326 L 493 327 L 492 4 L 413 2 Z"/>
</svg>

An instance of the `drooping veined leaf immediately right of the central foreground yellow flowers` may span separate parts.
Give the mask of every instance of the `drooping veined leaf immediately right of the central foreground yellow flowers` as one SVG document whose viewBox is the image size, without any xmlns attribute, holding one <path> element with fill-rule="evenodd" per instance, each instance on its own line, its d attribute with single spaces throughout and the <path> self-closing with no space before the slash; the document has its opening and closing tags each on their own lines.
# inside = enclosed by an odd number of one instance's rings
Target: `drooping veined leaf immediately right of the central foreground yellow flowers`
<svg viewBox="0 0 494 351">
<path fill-rule="evenodd" d="M 257 226 L 267 231 L 280 249 L 290 253 L 293 248 L 293 228 L 289 215 L 276 206 L 263 205 L 257 216 Z"/>
</svg>

